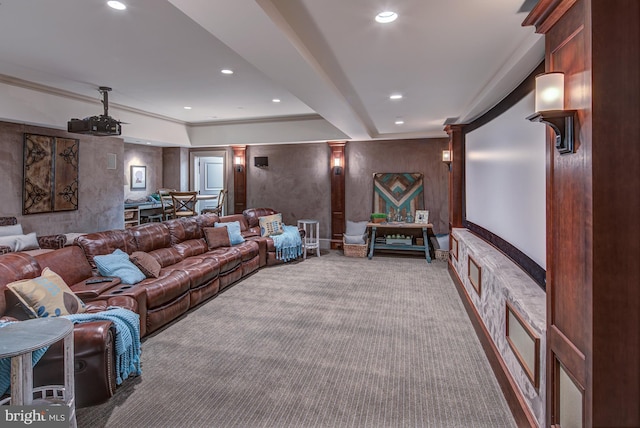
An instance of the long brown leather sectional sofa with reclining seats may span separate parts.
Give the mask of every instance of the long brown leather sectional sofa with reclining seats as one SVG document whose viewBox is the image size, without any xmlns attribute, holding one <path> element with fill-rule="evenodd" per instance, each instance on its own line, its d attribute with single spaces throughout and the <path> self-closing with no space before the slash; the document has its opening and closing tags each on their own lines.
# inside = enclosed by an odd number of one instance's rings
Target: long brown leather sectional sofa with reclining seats
<svg viewBox="0 0 640 428">
<path fill-rule="evenodd" d="M 125 230 L 96 232 L 76 238 L 74 245 L 31 256 L 9 253 L 0 256 L 0 320 L 24 319 L 19 304 L 6 284 L 35 278 L 45 267 L 58 273 L 87 305 L 87 312 L 110 306 L 130 309 L 140 315 L 142 337 L 159 330 L 185 312 L 215 296 L 260 267 L 281 263 L 273 240 L 260 236 L 258 218 L 276 211 L 245 210 L 243 214 L 196 217 L 146 223 Z M 245 242 L 205 239 L 205 229 L 216 222 L 238 221 Z M 158 278 L 137 284 L 119 279 L 86 284 L 97 276 L 94 257 L 120 249 L 128 254 L 142 251 L 161 266 Z M 106 401 L 115 393 L 114 334 L 111 322 L 76 324 L 76 405 L 84 407 Z M 52 346 L 36 365 L 34 383 L 61 383 L 61 346 Z"/>
</svg>

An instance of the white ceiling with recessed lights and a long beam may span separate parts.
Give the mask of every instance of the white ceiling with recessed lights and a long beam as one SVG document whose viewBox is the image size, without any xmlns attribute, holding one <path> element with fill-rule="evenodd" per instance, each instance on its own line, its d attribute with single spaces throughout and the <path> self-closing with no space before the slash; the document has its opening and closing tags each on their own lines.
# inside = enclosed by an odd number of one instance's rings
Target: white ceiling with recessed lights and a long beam
<svg viewBox="0 0 640 428">
<path fill-rule="evenodd" d="M 535 0 L 122 1 L 0 0 L 0 75 L 96 101 L 110 86 L 112 105 L 186 126 L 315 118 L 368 140 L 444 136 L 544 55 L 521 26 Z M 399 18 L 374 22 L 384 9 Z"/>
</svg>

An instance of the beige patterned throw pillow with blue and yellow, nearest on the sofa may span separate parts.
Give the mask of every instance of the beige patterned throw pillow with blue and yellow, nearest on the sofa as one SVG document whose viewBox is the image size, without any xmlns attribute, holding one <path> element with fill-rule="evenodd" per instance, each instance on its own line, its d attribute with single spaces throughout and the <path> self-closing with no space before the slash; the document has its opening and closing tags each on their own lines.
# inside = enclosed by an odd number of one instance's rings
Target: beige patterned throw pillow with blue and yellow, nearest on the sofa
<svg viewBox="0 0 640 428">
<path fill-rule="evenodd" d="M 7 288 L 20 300 L 33 318 L 58 317 L 85 311 L 78 299 L 60 275 L 44 268 L 42 275 L 7 284 Z"/>
</svg>

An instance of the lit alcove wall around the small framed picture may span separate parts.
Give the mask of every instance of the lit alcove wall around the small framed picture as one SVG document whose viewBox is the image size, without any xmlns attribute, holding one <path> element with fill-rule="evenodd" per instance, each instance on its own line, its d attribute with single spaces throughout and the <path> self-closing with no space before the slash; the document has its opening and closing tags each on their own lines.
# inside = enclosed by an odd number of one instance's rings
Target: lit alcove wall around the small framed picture
<svg viewBox="0 0 640 428">
<path fill-rule="evenodd" d="M 147 167 L 147 188 L 131 190 L 131 166 Z M 141 144 L 124 145 L 124 174 L 129 185 L 124 186 L 124 199 L 139 200 L 155 193 L 163 187 L 162 147 L 143 146 Z"/>
</svg>

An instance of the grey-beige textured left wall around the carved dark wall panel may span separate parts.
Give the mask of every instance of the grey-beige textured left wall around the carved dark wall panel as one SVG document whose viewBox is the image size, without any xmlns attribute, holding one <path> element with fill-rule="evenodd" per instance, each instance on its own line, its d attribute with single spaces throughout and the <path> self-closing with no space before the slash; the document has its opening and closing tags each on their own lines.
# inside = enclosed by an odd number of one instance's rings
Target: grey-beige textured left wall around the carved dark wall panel
<svg viewBox="0 0 640 428">
<path fill-rule="evenodd" d="M 79 145 L 78 210 L 22 215 L 24 133 L 76 138 Z M 116 169 L 107 169 L 107 153 Z M 26 233 L 94 232 L 124 226 L 124 143 L 116 137 L 69 134 L 59 129 L 0 122 L 0 216 L 15 216 Z"/>
</svg>

